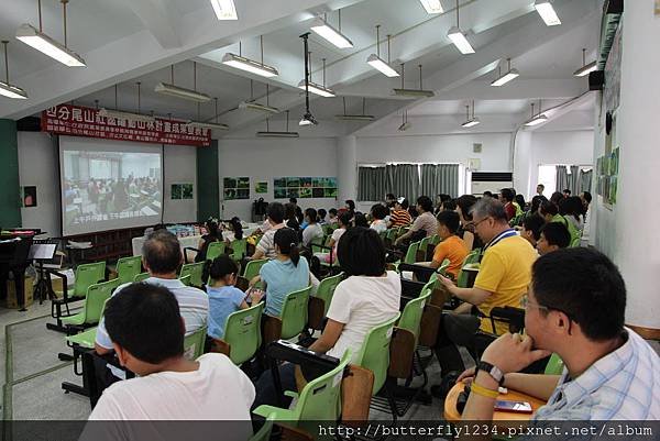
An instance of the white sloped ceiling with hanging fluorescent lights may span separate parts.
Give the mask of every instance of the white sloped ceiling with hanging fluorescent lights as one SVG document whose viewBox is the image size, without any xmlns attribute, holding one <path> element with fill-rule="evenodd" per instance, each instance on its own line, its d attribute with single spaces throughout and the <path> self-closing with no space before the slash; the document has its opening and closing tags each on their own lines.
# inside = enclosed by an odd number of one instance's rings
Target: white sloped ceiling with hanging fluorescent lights
<svg viewBox="0 0 660 441">
<path fill-rule="evenodd" d="M 312 98 L 311 110 L 321 125 L 307 134 L 355 133 L 383 124 L 400 122 L 402 111 L 415 118 L 451 121 L 465 119 L 465 106 L 475 101 L 475 114 L 485 122 L 472 130 L 510 130 L 529 118 L 530 103 L 542 101 L 551 108 L 587 90 L 585 78 L 572 73 L 582 65 L 582 48 L 587 63 L 597 47 L 602 0 L 553 0 L 562 25 L 548 27 L 540 20 L 532 0 L 461 0 L 460 26 L 476 49 L 461 55 L 447 38 L 447 30 L 455 25 L 453 1 L 442 0 L 443 14 L 429 15 L 419 0 L 242 0 L 235 1 L 240 20 L 219 22 L 209 0 L 72 0 L 67 7 L 68 44 L 87 62 L 86 68 L 66 68 L 13 38 L 24 22 L 38 25 L 36 0 L 3 0 L 8 3 L 0 15 L 0 36 L 11 40 L 9 63 L 11 82 L 23 87 L 30 99 L 13 101 L 0 98 L 0 118 L 36 114 L 48 106 L 75 100 L 76 103 L 138 110 L 138 86 L 141 82 L 140 110 L 175 118 L 197 119 L 197 104 L 154 92 L 160 81 L 193 88 L 194 63 L 197 89 L 218 98 L 200 106 L 199 119 L 218 121 L 231 131 L 218 136 L 250 134 L 262 130 L 264 114 L 238 110 L 250 98 L 250 79 L 254 79 L 254 97 L 266 101 L 266 80 L 220 64 L 227 52 L 261 59 L 263 36 L 264 63 L 276 66 L 279 76 L 267 80 L 268 101 L 280 110 L 290 110 L 292 122 L 304 112 L 304 96 L 295 86 L 304 77 L 302 42 L 299 35 L 309 31 L 310 20 L 327 14 L 336 27 L 341 9 L 342 32 L 354 44 L 338 49 L 310 35 L 312 80 L 323 81 L 321 59 L 326 58 L 326 84 L 338 98 Z M 44 32 L 62 41 L 62 5 L 55 0 L 42 1 Z M 376 52 L 375 25 L 381 25 L 381 56 L 387 59 L 386 35 L 392 34 L 392 65 L 406 64 L 405 87 L 419 87 L 418 65 L 422 65 L 425 89 L 430 99 L 402 99 L 392 89 L 400 87 L 400 78 L 389 79 L 372 69 L 365 59 Z M 520 77 L 502 88 L 490 82 L 506 59 L 520 71 Z M 339 122 L 343 113 L 366 113 L 374 122 Z M 593 112 L 593 99 L 572 103 L 557 119 L 571 121 L 571 112 Z M 284 123 L 285 114 L 272 118 Z M 551 118 L 552 119 L 552 118 Z M 452 125 L 453 124 L 453 125 Z M 442 125 L 442 124 L 439 124 Z M 552 121 L 547 125 L 552 126 Z M 562 124 L 556 130 L 561 130 Z M 569 123 L 570 125 L 570 123 Z M 257 128 L 257 129 L 255 129 Z M 542 128 L 539 128 L 542 130 Z M 452 129 L 453 130 L 453 129 Z M 460 125 L 457 130 L 460 130 Z M 549 130 L 549 129 L 546 129 Z M 408 132 L 407 132 L 408 133 Z M 414 133 L 410 132 L 410 133 Z"/>
</svg>

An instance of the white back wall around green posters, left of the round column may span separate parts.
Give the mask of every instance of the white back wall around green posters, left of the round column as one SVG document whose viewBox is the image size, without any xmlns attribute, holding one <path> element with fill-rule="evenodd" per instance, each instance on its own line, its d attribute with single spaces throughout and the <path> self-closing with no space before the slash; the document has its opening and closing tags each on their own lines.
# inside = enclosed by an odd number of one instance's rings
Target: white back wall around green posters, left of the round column
<svg viewBox="0 0 660 441">
<path fill-rule="evenodd" d="M 337 141 L 334 137 L 300 139 L 220 139 L 218 141 L 221 216 L 238 216 L 242 220 L 252 218 L 252 202 L 263 197 L 268 202 L 288 202 L 273 197 L 273 178 L 286 176 L 337 177 Z M 222 201 L 224 177 L 250 177 L 250 199 Z M 268 192 L 256 194 L 254 184 L 267 181 Z M 202 185 L 205 185 L 202 183 Z M 342 183 L 338 184 L 340 187 Z M 337 207 L 336 198 L 301 199 L 302 208 Z"/>
</svg>

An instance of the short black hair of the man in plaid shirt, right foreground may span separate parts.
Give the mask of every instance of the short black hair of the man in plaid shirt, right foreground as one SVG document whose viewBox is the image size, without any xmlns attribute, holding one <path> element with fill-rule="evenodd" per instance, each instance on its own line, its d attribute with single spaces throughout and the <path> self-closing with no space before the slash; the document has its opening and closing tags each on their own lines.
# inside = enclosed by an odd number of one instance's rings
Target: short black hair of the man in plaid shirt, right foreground
<svg viewBox="0 0 660 441">
<path fill-rule="evenodd" d="M 568 315 L 590 340 L 612 340 L 624 329 L 626 284 L 596 250 L 566 249 L 539 257 L 531 285 L 539 305 Z"/>
</svg>

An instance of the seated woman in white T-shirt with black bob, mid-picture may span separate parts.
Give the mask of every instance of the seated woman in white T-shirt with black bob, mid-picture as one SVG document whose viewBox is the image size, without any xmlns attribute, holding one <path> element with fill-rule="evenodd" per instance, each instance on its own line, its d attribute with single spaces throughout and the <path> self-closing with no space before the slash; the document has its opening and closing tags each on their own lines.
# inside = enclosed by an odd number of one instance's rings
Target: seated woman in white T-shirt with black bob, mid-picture
<svg viewBox="0 0 660 441">
<path fill-rule="evenodd" d="M 366 333 L 399 311 L 402 282 L 396 272 L 385 271 L 385 246 L 372 229 L 346 230 L 339 241 L 338 257 L 348 278 L 337 286 L 328 309 L 328 323 L 309 349 L 341 359 L 350 348 L 355 361 Z M 294 364 L 286 363 L 279 367 L 284 390 L 296 390 L 294 373 Z M 277 404 L 271 372 L 261 376 L 256 390 L 253 407 Z M 285 398 L 285 401 L 290 401 L 290 398 Z"/>
</svg>

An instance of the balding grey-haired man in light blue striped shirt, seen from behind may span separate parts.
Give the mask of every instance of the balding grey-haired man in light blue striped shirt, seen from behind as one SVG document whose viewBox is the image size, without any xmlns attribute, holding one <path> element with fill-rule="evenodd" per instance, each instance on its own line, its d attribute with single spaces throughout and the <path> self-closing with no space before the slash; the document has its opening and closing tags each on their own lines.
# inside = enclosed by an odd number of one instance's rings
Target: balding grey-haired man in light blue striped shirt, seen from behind
<svg viewBox="0 0 660 441">
<path fill-rule="evenodd" d="M 142 264 L 150 277 L 144 283 L 164 286 L 169 289 L 179 302 L 186 335 L 206 327 L 209 310 L 209 298 L 201 289 L 186 286 L 178 279 L 177 269 L 183 263 L 182 249 L 178 240 L 167 230 L 152 233 L 142 245 Z M 117 295 L 130 284 L 119 286 Z M 96 352 L 99 355 L 112 351 L 112 339 L 106 330 L 106 319 L 101 318 L 97 328 Z"/>
</svg>

